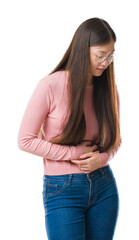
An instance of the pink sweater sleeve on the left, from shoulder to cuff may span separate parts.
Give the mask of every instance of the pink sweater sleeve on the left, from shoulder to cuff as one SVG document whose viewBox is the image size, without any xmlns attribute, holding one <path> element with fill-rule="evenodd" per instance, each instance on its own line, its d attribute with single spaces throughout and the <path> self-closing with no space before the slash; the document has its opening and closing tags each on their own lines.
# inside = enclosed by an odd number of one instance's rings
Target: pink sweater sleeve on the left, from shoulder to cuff
<svg viewBox="0 0 139 240">
<path fill-rule="evenodd" d="M 18 133 L 18 146 L 21 150 L 50 160 L 79 159 L 82 147 L 53 144 L 38 138 L 40 127 L 49 113 L 52 101 L 51 87 L 46 78 L 41 79 L 26 107 Z"/>
</svg>

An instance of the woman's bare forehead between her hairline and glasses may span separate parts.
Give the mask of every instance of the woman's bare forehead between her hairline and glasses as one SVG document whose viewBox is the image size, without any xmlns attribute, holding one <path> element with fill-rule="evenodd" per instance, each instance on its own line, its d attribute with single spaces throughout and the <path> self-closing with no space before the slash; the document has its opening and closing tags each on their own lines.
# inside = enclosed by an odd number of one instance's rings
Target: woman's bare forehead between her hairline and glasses
<svg viewBox="0 0 139 240">
<path fill-rule="evenodd" d="M 96 45 L 96 46 L 91 46 L 90 50 L 91 51 L 97 51 L 101 53 L 107 53 L 107 52 L 113 52 L 114 51 L 114 41 L 111 41 L 107 44 L 104 45 Z"/>
</svg>

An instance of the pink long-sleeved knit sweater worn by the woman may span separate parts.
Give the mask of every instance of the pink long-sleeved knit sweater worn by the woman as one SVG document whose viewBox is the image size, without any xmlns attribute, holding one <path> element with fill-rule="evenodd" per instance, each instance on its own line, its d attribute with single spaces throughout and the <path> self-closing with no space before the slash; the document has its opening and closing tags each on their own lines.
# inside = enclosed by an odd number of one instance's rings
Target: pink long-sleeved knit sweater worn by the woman
<svg viewBox="0 0 139 240">
<path fill-rule="evenodd" d="M 66 116 L 68 92 L 66 71 L 57 71 L 41 79 L 27 105 L 18 133 L 21 150 L 43 157 L 45 175 L 83 173 L 70 160 L 81 160 L 82 147 L 52 144 L 49 139 L 60 133 L 61 123 Z M 86 135 L 84 140 L 98 136 L 98 123 L 92 103 L 93 85 L 86 89 L 84 114 Z M 119 102 L 119 97 L 118 97 Z M 42 139 L 38 138 L 41 128 Z M 106 166 L 121 145 L 110 152 L 99 153 L 101 167 Z"/>
</svg>

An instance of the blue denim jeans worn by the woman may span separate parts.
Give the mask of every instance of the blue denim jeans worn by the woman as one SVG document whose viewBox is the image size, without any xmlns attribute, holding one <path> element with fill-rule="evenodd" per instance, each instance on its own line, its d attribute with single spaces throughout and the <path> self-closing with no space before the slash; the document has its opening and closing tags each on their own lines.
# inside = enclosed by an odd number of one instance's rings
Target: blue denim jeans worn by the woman
<svg viewBox="0 0 139 240">
<path fill-rule="evenodd" d="M 112 240 L 119 194 L 110 165 L 91 173 L 44 175 L 48 240 Z"/>
</svg>

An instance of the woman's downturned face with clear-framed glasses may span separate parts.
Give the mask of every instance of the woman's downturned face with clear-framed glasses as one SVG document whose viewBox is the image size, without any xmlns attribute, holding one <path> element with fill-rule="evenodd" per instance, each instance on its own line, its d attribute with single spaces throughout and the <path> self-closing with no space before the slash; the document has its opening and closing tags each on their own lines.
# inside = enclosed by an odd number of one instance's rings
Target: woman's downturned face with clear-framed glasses
<svg viewBox="0 0 139 240">
<path fill-rule="evenodd" d="M 114 53 L 114 41 L 104 45 L 90 47 L 90 74 L 100 76 L 103 71 L 110 65 L 112 54 Z M 107 58 L 105 59 L 105 57 Z"/>
</svg>

